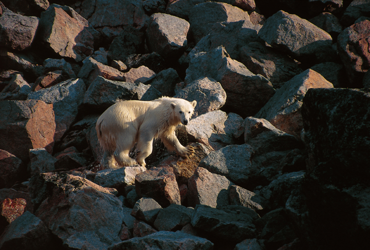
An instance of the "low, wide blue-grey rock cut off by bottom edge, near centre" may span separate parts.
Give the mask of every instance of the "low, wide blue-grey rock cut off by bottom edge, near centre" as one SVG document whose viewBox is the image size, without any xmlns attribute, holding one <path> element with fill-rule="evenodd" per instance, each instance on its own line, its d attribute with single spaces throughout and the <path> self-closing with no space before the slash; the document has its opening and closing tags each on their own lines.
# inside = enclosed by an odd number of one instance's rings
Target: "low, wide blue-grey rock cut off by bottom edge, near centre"
<svg viewBox="0 0 370 250">
<path fill-rule="evenodd" d="M 160 231 L 150 235 L 131 238 L 108 247 L 108 250 L 132 249 L 141 250 L 150 245 L 160 250 L 177 249 L 179 245 L 188 250 L 211 250 L 213 243 L 201 237 L 181 232 Z"/>
</svg>

